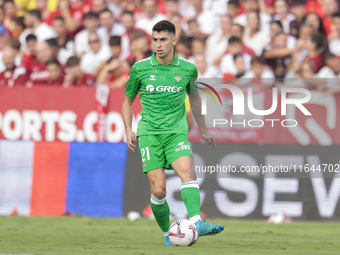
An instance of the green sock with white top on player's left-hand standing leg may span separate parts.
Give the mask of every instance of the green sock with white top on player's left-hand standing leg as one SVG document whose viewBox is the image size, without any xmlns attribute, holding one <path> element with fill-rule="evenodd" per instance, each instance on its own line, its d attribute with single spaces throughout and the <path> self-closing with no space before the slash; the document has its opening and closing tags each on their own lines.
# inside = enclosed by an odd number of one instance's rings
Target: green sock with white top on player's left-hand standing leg
<svg viewBox="0 0 340 255">
<path fill-rule="evenodd" d="M 170 208 L 165 197 L 158 199 L 151 195 L 150 205 L 158 226 L 163 232 L 168 232 L 170 228 Z"/>
</svg>

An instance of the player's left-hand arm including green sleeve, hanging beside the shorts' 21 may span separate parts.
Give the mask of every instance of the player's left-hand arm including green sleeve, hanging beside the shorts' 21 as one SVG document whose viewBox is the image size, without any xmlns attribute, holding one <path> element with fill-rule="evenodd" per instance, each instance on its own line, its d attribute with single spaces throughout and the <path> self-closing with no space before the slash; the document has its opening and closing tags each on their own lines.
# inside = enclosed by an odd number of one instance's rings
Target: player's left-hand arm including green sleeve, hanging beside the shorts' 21
<svg viewBox="0 0 340 255">
<path fill-rule="evenodd" d="M 136 134 L 132 130 L 132 103 L 138 94 L 140 88 L 140 79 L 136 70 L 136 65 L 133 65 L 129 72 L 129 80 L 125 87 L 125 99 L 122 106 L 122 117 L 125 125 L 126 141 L 132 151 L 136 151 Z"/>
</svg>

